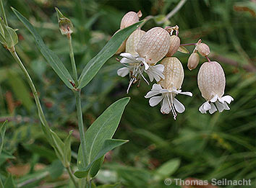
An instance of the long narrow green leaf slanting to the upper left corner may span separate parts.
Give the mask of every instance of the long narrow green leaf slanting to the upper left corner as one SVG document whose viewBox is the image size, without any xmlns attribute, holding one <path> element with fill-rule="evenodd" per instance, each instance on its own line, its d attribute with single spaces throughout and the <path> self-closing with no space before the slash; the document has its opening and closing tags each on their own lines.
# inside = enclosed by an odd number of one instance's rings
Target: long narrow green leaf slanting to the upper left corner
<svg viewBox="0 0 256 188">
<path fill-rule="evenodd" d="M 35 39 L 35 43 L 40 50 L 40 53 L 42 53 L 43 57 L 46 58 L 46 61 L 49 63 L 51 68 L 54 69 L 54 71 L 58 74 L 59 78 L 66 84 L 67 87 L 70 89 L 73 89 L 74 87 L 70 83 L 74 80 L 72 79 L 72 76 L 70 76 L 69 71 L 67 71 L 67 68 L 64 66 L 64 64 L 61 62 L 59 57 L 51 51 L 43 42 L 42 38 L 38 34 L 38 32 L 35 30 L 32 24 L 28 22 L 28 20 L 20 14 L 20 12 L 17 12 L 16 9 L 12 8 L 12 11 L 14 14 L 16 14 L 17 18 L 20 19 L 20 21 L 27 27 L 27 30 L 30 31 L 30 33 L 33 35 Z"/>
</svg>

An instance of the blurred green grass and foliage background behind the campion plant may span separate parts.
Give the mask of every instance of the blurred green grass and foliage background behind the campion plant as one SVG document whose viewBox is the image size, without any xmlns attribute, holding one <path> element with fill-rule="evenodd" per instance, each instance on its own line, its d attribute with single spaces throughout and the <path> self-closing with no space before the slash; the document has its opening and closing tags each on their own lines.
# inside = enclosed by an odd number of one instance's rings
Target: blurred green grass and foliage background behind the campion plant
<svg viewBox="0 0 256 188">
<path fill-rule="evenodd" d="M 38 29 L 49 48 L 71 70 L 67 40 L 61 36 L 54 6 L 72 19 L 74 53 L 79 72 L 119 30 L 121 17 L 129 11 L 142 11 L 142 18 L 153 15 L 142 30 L 171 12 L 178 0 L 83 1 L 8 0 L 4 1 L 11 27 L 19 29 L 17 53 L 22 58 L 40 92 L 44 112 L 51 127 L 64 138 L 74 130 L 72 156 L 79 145 L 77 117 L 72 92 L 46 64 L 21 22 L 10 10 L 13 6 Z M 256 96 L 256 2 L 232 0 L 190 0 L 171 17 L 179 25 L 182 43 L 199 38 L 210 46 L 211 60 L 223 66 L 226 91 L 234 97 L 231 110 L 202 115 L 204 102 L 197 88 L 197 71 L 187 69 L 189 55 L 176 53 L 184 66 L 182 89 L 193 97 L 179 96 L 186 111 L 174 120 L 162 115 L 160 107 L 150 107 L 144 96 L 151 89 L 145 83 L 133 86 L 132 97 L 116 138 L 130 140 L 106 155 L 103 170 L 95 183 L 113 187 L 168 187 L 166 178 L 251 179 L 255 185 L 255 96 Z M 188 48 L 192 52 L 193 48 Z M 116 56 L 117 57 L 117 56 Z M 111 58 L 93 81 L 82 90 L 82 109 L 88 127 L 108 105 L 127 96 L 128 78 L 117 76 L 120 64 Z M 206 59 L 201 58 L 200 63 Z M 67 173 L 48 145 L 36 113 L 30 89 L 20 68 L 4 48 L 0 49 L 0 123 L 8 119 L 0 174 L 13 174 L 19 187 L 72 187 Z M 75 160 L 73 161 L 75 162 Z M 32 181 L 30 181 L 32 180 Z M 32 182 L 27 184 L 27 182 Z M 175 187 L 175 186 L 169 186 Z M 228 186 L 226 186 L 228 187 Z M 244 186 L 246 187 L 246 186 Z"/>
</svg>

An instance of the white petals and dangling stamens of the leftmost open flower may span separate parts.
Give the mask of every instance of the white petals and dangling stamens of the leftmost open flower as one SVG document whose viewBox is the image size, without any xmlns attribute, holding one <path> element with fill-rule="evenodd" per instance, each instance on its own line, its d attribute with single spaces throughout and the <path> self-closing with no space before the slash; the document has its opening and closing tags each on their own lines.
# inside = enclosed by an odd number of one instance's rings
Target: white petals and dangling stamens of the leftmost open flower
<svg viewBox="0 0 256 188">
<path fill-rule="evenodd" d="M 130 53 L 121 53 L 120 56 L 123 57 L 120 63 L 126 67 L 119 68 L 117 74 L 121 77 L 127 76 L 129 73 L 132 74 L 127 93 L 129 92 L 130 86 L 135 84 L 136 81 L 140 81 L 141 77 L 148 83 L 142 74 L 143 72 L 148 73 L 150 81 L 153 81 L 153 79 L 156 81 L 160 81 L 161 78 L 164 79 L 162 73 L 164 69 L 163 65 L 149 66 L 148 63 L 145 62 L 145 58 L 140 58 L 139 55 L 132 55 Z"/>
</svg>

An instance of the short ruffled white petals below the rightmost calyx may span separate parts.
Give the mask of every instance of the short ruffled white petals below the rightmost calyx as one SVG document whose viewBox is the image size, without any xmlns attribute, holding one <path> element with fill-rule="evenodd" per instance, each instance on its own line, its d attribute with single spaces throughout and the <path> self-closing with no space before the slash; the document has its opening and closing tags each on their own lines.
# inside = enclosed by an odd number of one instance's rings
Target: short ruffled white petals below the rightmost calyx
<svg viewBox="0 0 256 188">
<path fill-rule="evenodd" d="M 200 106 L 199 111 L 202 114 L 206 114 L 208 110 L 210 114 L 213 114 L 214 112 L 217 111 L 217 109 L 218 109 L 218 112 L 223 112 L 224 109 L 227 109 L 227 110 L 230 109 L 227 103 L 230 104 L 231 101 L 234 101 L 234 99 L 229 95 L 226 95 L 224 97 L 218 97 L 218 94 L 216 94 L 213 97 L 213 99 L 210 99 L 210 101 L 203 103 Z M 213 103 L 216 104 L 216 106 Z"/>
</svg>

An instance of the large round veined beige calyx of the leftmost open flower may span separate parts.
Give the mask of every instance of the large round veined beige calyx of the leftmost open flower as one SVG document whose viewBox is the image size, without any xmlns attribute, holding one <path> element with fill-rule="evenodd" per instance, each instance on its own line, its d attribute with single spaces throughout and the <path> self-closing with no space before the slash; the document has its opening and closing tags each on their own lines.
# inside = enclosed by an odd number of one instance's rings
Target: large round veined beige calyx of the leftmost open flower
<svg viewBox="0 0 256 188">
<path fill-rule="evenodd" d="M 170 35 L 161 27 L 153 27 L 145 33 L 137 44 L 135 51 L 146 63 L 158 63 L 168 53 L 170 48 Z"/>
</svg>

